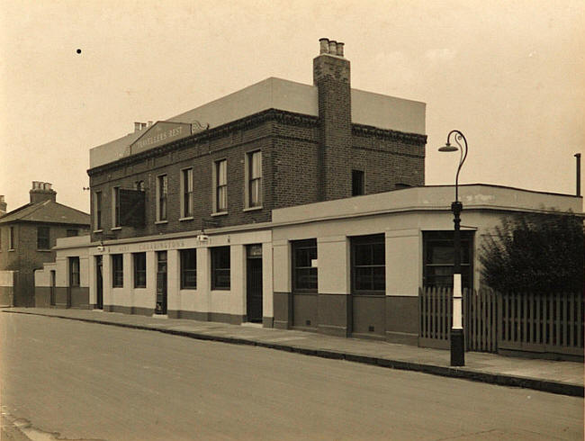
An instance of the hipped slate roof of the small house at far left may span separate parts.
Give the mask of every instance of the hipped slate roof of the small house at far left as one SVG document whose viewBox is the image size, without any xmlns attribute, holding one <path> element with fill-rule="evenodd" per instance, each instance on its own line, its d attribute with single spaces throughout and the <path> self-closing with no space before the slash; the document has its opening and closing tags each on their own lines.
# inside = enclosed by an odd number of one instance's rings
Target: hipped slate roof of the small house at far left
<svg viewBox="0 0 585 441">
<path fill-rule="evenodd" d="M 54 201 L 27 203 L 0 217 L 0 224 L 9 222 L 45 222 L 76 225 L 90 224 L 89 214 Z"/>
</svg>

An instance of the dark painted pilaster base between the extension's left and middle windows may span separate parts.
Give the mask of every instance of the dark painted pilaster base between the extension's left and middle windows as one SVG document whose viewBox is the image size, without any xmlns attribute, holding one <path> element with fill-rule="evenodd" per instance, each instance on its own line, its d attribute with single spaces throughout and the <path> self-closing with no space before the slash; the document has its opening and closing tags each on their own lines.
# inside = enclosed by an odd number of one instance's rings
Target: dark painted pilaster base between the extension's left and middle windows
<svg viewBox="0 0 585 441">
<path fill-rule="evenodd" d="M 319 294 L 319 331 L 329 336 L 348 337 L 351 327 L 351 299 L 347 294 Z"/>
</svg>

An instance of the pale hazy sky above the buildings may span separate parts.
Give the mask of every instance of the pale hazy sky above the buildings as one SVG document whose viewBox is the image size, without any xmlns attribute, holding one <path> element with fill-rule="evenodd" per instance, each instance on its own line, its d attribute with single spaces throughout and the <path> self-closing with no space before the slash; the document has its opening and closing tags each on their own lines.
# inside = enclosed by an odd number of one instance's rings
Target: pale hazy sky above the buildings
<svg viewBox="0 0 585 441">
<path fill-rule="evenodd" d="M 582 0 L 4 0 L 0 194 L 49 182 L 88 212 L 90 148 L 269 76 L 312 84 L 321 37 L 352 87 L 427 103 L 426 184 L 454 183 L 456 129 L 460 183 L 574 194 L 583 29 Z"/>
</svg>

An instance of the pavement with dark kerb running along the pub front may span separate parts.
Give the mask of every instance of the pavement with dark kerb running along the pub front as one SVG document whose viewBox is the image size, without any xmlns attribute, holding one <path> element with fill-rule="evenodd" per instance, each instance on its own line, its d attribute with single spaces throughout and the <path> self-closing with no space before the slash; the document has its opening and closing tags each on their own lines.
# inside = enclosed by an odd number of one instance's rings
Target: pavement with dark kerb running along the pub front
<svg viewBox="0 0 585 441">
<path fill-rule="evenodd" d="M 465 366 L 453 367 L 450 366 L 448 350 L 413 347 L 370 339 L 330 337 L 320 333 L 291 329 L 262 328 L 260 325 L 250 323 L 229 325 L 211 321 L 167 319 L 160 316 L 147 317 L 101 310 L 6 308 L 2 312 L 152 330 L 187 338 L 267 347 L 306 356 L 320 356 L 583 397 L 583 363 L 579 362 L 467 352 Z"/>
</svg>

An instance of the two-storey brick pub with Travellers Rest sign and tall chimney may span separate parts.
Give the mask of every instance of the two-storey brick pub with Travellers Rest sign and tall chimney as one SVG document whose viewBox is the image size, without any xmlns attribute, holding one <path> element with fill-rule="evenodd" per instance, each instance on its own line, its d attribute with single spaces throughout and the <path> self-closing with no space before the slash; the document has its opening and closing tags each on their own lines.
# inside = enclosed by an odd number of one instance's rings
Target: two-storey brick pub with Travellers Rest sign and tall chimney
<svg viewBox="0 0 585 441">
<path fill-rule="evenodd" d="M 352 89 L 343 48 L 90 151 L 94 307 L 272 326 L 273 210 L 424 185 L 425 104 Z"/>
</svg>

